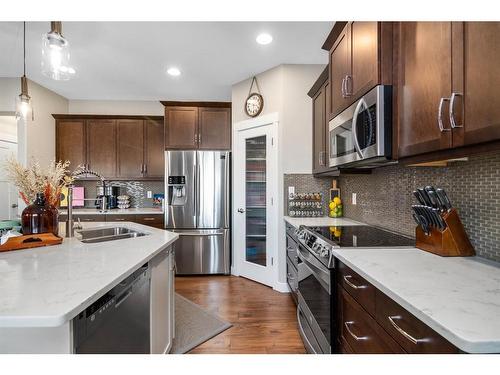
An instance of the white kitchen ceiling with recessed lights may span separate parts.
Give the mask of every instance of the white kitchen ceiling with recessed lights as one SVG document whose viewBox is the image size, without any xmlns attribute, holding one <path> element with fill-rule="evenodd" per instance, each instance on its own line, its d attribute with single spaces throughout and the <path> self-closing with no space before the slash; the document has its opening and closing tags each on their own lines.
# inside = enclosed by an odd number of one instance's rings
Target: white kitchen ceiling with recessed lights
<svg viewBox="0 0 500 375">
<path fill-rule="evenodd" d="M 326 64 L 333 22 L 63 22 L 77 76 L 40 69 L 49 22 L 28 22 L 27 76 L 68 99 L 228 100 L 231 85 L 279 64 Z M 261 32 L 273 36 L 262 46 Z M 0 22 L 0 76 L 22 75 L 22 22 Z M 168 76 L 177 66 L 180 77 Z"/>
</svg>

